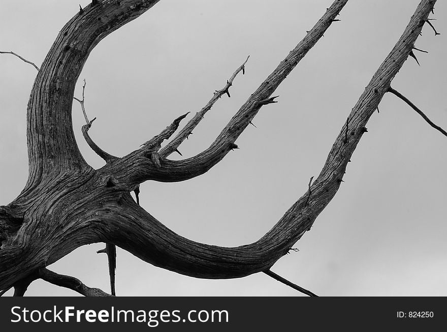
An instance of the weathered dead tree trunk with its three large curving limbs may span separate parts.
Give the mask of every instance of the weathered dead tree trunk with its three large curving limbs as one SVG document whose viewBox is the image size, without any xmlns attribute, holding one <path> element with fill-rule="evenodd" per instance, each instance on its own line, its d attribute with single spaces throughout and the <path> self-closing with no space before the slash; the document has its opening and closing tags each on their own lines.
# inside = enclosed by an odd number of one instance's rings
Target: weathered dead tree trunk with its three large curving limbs
<svg viewBox="0 0 447 332">
<path fill-rule="evenodd" d="M 95 45 L 157 2 L 109 0 L 89 5 L 58 34 L 28 103 L 28 181 L 17 199 L 0 207 L 0 289 L 94 242 L 118 245 L 155 266 L 199 278 L 236 278 L 268 271 L 310 229 L 336 194 L 366 123 L 410 54 L 436 0 L 421 1 L 396 46 L 350 112 L 309 190 L 265 236 L 233 248 L 181 237 L 136 204 L 130 192 L 147 180 L 172 182 L 199 176 L 235 149 L 242 131 L 263 105 L 274 102 L 271 95 L 275 89 L 323 36 L 347 0 L 337 0 L 328 8 L 208 149 L 195 157 L 168 160 L 166 157 L 178 145 L 160 150 L 159 140 L 172 135 L 171 130 L 165 130 L 141 149 L 116 158 L 90 139 L 89 145 L 108 159 L 103 168 L 94 170 L 82 158 L 73 134 L 71 107 L 76 81 Z M 178 122 L 174 122 L 176 126 Z M 88 136 L 86 130 L 83 133 Z"/>
</svg>

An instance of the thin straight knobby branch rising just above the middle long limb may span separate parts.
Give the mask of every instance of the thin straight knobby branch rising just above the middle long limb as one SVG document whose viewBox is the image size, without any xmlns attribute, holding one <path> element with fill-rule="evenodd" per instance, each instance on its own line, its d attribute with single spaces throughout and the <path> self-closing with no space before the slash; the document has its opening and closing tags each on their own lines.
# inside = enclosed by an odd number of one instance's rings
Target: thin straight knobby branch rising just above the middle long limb
<svg viewBox="0 0 447 332">
<path fill-rule="evenodd" d="M 177 134 L 177 136 L 170 141 L 163 149 L 160 151 L 160 155 L 164 158 L 168 157 L 170 154 L 175 152 L 179 145 L 186 139 L 190 134 L 193 133 L 194 128 L 197 127 L 199 122 L 203 119 L 205 113 L 208 112 L 208 110 L 211 109 L 211 107 L 214 105 L 214 103 L 224 94 L 227 94 L 230 97 L 229 89 L 233 85 L 233 81 L 238 75 L 239 72 L 242 71 L 242 75 L 245 75 L 245 64 L 248 61 L 248 58 L 250 56 L 247 56 L 247 59 L 242 63 L 239 68 L 236 69 L 236 71 L 233 73 L 231 78 L 227 81 L 227 84 L 225 87 L 223 87 L 220 90 L 216 90 L 214 92 L 213 97 L 208 101 L 208 103 L 200 110 L 200 112 L 197 112 L 196 115 L 189 120 L 189 122 L 183 127 L 183 129 L 180 130 L 180 132 Z"/>
</svg>

